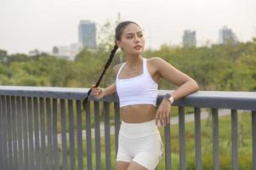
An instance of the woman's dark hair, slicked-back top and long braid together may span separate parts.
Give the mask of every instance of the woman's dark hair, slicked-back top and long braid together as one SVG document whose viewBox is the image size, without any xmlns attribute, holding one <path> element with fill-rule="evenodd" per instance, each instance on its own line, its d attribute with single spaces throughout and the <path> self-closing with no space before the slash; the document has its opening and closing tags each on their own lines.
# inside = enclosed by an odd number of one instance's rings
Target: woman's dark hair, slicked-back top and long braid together
<svg viewBox="0 0 256 170">
<path fill-rule="evenodd" d="M 128 26 L 129 24 L 135 24 L 136 26 L 139 26 L 138 24 L 136 24 L 135 22 L 133 21 L 123 21 L 121 23 L 119 23 L 116 27 L 116 30 L 115 30 L 115 40 L 116 41 L 121 41 L 121 37 L 122 37 L 122 31 L 124 30 L 124 28 L 126 26 Z M 105 67 L 104 67 L 104 70 L 102 71 L 101 75 L 100 75 L 100 78 L 99 80 L 96 82 L 95 86 L 93 88 L 97 88 L 99 87 L 100 85 L 100 82 L 101 82 L 101 79 L 102 77 L 105 75 L 105 71 L 108 69 L 108 67 L 111 65 L 111 62 L 112 62 L 112 59 L 114 58 L 116 52 L 117 52 L 117 49 L 118 49 L 118 46 L 117 46 L 117 42 L 115 42 L 115 46 L 114 48 L 111 50 L 111 55 L 110 55 L 110 58 L 107 60 L 107 62 L 105 63 Z M 86 103 L 88 101 L 88 96 L 91 94 L 92 92 L 92 89 L 93 88 L 90 88 L 88 90 L 88 94 L 87 94 L 87 97 L 85 99 L 83 99 L 82 101 L 82 105 L 85 109 L 85 106 L 86 106 Z"/>
</svg>

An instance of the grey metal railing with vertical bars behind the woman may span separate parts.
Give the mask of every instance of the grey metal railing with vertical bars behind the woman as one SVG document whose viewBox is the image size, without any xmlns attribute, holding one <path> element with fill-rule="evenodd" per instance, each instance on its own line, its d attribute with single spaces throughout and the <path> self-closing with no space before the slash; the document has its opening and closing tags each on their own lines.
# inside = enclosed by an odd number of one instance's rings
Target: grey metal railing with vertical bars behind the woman
<svg viewBox="0 0 256 170">
<path fill-rule="evenodd" d="M 114 169 L 120 127 L 117 95 L 101 100 L 91 97 L 82 112 L 82 99 L 87 91 L 88 88 L 0 86 L 0 169 Z M 167 92 L 171 91 L 158 91 L 158 105 Z M 251 111 L 252 169 L 256 169 L 256 93 L 199 91 L 175 101 L 174 106 L 179 107 L 179 169 L 186 167 L 185 107 L 193 107 L 195 111 L 198 170 L 202 169 L 201 108 L 211 109 L 216 170 L 219 169 L 219 109 L 231 112 L 234 170 L 238 169 L 237 111 Z M 165 169 L 171 169 L 170 124 L 164 127 L 163 141 Z"/>
</svg>

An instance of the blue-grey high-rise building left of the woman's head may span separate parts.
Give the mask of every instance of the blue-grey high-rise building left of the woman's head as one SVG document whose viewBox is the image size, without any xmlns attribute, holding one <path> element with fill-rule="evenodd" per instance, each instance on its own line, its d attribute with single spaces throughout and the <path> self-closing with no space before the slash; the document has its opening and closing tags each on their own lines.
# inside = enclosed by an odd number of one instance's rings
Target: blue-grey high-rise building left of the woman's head
<svg viewBox="0 0 256 170">
<path fill-rule="evenodd" d="M 96 26 L 89 20 L 81 20 L 78 26 L 78 41 L 82 48 L 96 48 Z"/>
</svg>

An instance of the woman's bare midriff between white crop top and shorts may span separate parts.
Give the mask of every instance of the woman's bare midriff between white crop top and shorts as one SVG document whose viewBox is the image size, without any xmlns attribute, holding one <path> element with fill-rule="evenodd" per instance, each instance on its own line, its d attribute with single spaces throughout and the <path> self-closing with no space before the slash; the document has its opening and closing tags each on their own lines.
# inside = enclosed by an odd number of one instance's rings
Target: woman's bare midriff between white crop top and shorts
<svg viewBox="0 0 256 170">
<path fill-rule="evenodd" d="M 127 105 L 121 108 L 122 121 L 128 123 L 149 122 L 155 119 L 154 105 Z"/>
</svg>

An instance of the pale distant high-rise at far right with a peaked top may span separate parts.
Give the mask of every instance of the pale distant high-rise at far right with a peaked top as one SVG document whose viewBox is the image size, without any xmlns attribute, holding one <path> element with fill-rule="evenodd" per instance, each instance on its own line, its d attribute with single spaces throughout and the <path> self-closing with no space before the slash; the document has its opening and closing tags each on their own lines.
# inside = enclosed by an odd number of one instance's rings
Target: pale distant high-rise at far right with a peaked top
<svg viewBox="0 0 256 170">
<path fill-rule="evenodd" d="M 238 42 L 236 34 L 227 26 L 223 26 L 222 29 L 219 30 L 219 43 L 227 44 L 227 43 L 236 43 Z"/>
</svg>

